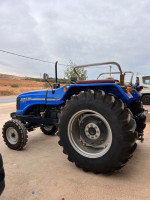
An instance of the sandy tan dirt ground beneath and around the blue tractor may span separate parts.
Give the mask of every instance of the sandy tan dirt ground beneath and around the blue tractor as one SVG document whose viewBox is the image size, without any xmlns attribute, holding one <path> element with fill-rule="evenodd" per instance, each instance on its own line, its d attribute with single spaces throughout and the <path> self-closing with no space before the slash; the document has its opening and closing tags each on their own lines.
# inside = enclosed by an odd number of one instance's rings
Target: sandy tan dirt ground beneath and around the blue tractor
<svg viewBox="0 0 150 200">
<path fill-rule="evenodd" d="M 15 103 L 0 104 L 0 130 L 15 111 Z M 145 141 L 138 142 L 133 158 L 111 175 L 85 173 L 67 161 L 57 136 L 29 133 L 23 151 L 7 148 L 0 136 L 0 152 L 6 171 L 2 200 L 149 200 L 150 124 Z M 34 193 L 34 194 L 32 194 Z"/>
</svg>

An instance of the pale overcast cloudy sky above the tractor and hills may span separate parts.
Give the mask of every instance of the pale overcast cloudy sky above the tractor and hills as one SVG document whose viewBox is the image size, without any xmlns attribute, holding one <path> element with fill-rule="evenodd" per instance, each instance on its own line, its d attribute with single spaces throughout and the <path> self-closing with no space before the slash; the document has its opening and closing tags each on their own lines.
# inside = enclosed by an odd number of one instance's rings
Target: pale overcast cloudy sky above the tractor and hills
<svg viewBox="0 0 150 200">
<path fill-rule="evenodd" d="M 0 0 L 0 49 L 65 65 L 116 61 L 150 75 L 150 0 Z M 58 77 L 65 69 L 58 65 Z M 44 72 L 54 76 L 54 64 L 0 52 L 0 73 Z"/>
</svg>

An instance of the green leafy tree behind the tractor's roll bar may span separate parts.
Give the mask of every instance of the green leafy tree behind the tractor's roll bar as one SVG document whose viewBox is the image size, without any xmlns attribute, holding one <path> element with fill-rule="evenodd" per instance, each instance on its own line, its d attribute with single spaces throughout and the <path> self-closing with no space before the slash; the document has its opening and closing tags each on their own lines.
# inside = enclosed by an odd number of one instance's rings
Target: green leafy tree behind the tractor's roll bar
<svg viewBox="0 0 150 200">
<path fill-rule="evenodd" d="M 66 70 L 64 71 L 64 77 L 69 79 L 71 77 L 77 77 L 77 74 L 74 72 L 74 67 L 76 65 L 70 61 L 69 65 L 67 66 Z M 87 71 L 84 68 L 78 68 L 76 69 L 78 72 L 79 76 L 81 77 L 81 80 L 86 80 L 88 78 L 87 76 Z"/>
</svg>

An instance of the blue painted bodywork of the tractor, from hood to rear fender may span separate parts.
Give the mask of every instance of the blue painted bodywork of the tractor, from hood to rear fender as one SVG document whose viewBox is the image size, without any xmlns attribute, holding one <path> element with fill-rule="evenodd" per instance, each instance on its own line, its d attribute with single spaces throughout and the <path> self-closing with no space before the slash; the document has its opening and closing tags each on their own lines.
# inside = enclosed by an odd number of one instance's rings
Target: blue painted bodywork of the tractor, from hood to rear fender
<svg viewBox="0 0 150 200">
<path fill-rule="evenodd" d="M 64 92 L 64 87 L 66 91 Z M 101 83 L 101 84 L 73 84 L 68 86 L 63 86 L 61 88 L 53 90 L 48 90 L 47 93 L 47 104 L 48 105 L 61 105 L 67 99 L 67 95 L 75 94 L 76 91 L 87 90 L 87 89 L 102 89 L 107 93 L 112 93 L 121 99 L 124 103 L 129 104 L 139 97 L 135 91 L 132 94 L 132 98 L 129 97 L 123 89 L 114 83 Z M 24 114 L 24 112 L 33 105 L 45 104 L 45 95 L 47 90 L 40 90 L 34 92 L 27 92 L 19 95 L 21 103 L 20 110 L 17 114 Z"/>
</svg>

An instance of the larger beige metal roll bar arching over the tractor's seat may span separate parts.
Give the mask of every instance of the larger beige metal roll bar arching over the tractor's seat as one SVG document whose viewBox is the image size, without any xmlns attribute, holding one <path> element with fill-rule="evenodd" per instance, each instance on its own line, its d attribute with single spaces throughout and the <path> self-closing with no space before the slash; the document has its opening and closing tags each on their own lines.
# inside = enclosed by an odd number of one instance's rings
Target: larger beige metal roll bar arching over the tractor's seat
<svg viewBox="0 0 150 200">
<path fill-rule="evenodd" d="M 87 64 L 87 65 L 78 65 L 74 67 L 74 72 L 77 74 L 78 80 L 81 79 L 80 75 L 78 74 L 77 70 L 78 68 L 85 68 L 85 67 L 92 67 L 92 66 L 100 66 L 100 65 L 116 65 L 119 69 L 120 74 L 120 85 L 124 85 L 124 73 L 122 72 L 122 69 L 120 65 L 117 62 L 103 62 L 103 63 L 95 63 L 95 64 Z"/>
</svg>

